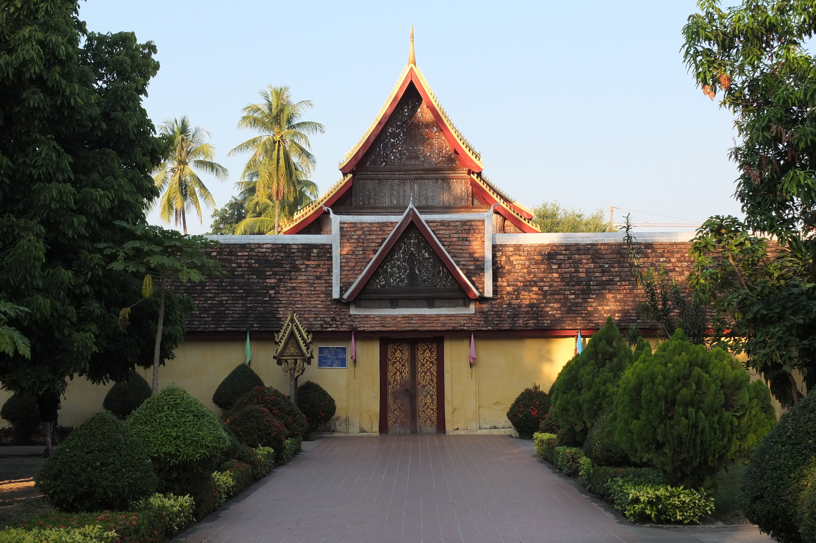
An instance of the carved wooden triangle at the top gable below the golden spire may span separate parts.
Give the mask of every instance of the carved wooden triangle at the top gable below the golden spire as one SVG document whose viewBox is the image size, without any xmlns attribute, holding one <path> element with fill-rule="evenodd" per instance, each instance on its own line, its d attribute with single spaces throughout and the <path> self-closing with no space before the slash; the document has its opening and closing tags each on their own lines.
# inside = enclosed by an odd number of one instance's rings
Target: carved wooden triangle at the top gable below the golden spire
<svg viewBox="0 0 816 543">
<path fill-rule="evenodd" d="M 456 166 L 456 156 L 412 84 L 394 109 L 366 166 Z"/>
</svg>

